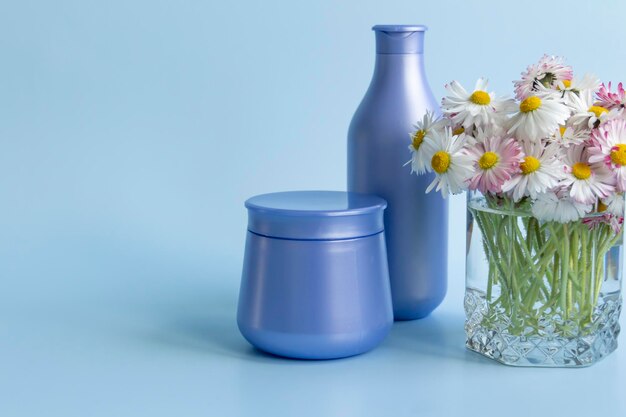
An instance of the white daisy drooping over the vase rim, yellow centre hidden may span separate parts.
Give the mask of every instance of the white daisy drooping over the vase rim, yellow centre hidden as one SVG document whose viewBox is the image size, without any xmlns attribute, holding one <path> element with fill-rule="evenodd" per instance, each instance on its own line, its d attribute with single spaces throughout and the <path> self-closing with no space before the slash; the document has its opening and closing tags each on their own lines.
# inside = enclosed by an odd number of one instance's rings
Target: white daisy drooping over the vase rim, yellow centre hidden
<svg viewBox="0 0 626 417">
<path fill-rule="evenodd" d="M 559 192 L 557 194 L 554 191 L 537 195 L 531 207 L 531 211 L 537 219 L 559 223 L 579 220 L 592 209 L 592 204 L 579 203 L 564 193 Z"/>
</svg>

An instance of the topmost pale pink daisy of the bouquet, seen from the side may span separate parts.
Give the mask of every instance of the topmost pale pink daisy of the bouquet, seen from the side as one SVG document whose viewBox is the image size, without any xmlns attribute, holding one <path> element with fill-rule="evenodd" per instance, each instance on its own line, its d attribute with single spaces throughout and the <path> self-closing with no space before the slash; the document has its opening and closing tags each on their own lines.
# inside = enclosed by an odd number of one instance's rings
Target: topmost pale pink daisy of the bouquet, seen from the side
<svg viewBox="0 0 626 417">
<path fill-rule="evenodd" d="M 565 65 L 562 57 L 544 55 L 538 63 L 529 65 L 522 73 L 522 79 L 514 81 L 515 97 L 524 100 L 537 90 L 539 85 L 554 88 L 559 81 L 571 80 L 572 67 Z"/>
</svg>

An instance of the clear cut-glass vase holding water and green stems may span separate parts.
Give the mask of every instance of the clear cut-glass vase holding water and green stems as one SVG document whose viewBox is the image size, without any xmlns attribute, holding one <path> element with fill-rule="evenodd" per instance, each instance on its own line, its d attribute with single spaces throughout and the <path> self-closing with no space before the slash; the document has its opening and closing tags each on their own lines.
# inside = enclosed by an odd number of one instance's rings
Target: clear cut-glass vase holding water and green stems
<svg viewBox="0 0 626 417">
<path fill-rule="evenodd" d="M 605 220 L 542 222 L 471 196 L 466 346 L 518 366 L 587 366 L 615 350 L 622 232 Z"/>
</svg>

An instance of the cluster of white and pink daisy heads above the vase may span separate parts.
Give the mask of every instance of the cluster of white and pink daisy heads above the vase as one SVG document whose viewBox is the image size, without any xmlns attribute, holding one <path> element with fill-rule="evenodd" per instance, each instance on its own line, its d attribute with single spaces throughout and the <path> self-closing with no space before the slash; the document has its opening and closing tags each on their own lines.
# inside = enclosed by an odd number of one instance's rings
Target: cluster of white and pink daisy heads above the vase
<svg viewBox="0 0 626 417">
<path fill-rule="evenodd" d="M 444 117 L 427 113 L 411 134 L 412 172 L 434 172 L 433 189 L 477 190 L 528 206 L 540 220 L 571 222 L 598 209 L 618 228 L 626 190 L 626 92 L 620 83 L 573 76 L 544 56 L 514 81 L 515 100 L 479 79 L 446 85 Z"/>
</svg>

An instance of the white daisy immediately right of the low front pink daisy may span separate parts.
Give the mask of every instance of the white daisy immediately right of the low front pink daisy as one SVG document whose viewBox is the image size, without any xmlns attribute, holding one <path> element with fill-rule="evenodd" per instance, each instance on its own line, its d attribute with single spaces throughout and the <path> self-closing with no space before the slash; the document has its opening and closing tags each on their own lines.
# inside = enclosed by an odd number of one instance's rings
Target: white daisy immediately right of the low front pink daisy
<svg viewBox="0 0 626 417">
<path fill-rule="evenodd" d="M 563 178 L 563 163 L 558 160 L 559 147 L 541 142 L 524 142 L 526 155 L 520 163 L 520 171 L 502 185 L 503 192 L 510 192 L 514 201 L 525 196 L 537 197 L 555 187 Z"/>
</svg>

